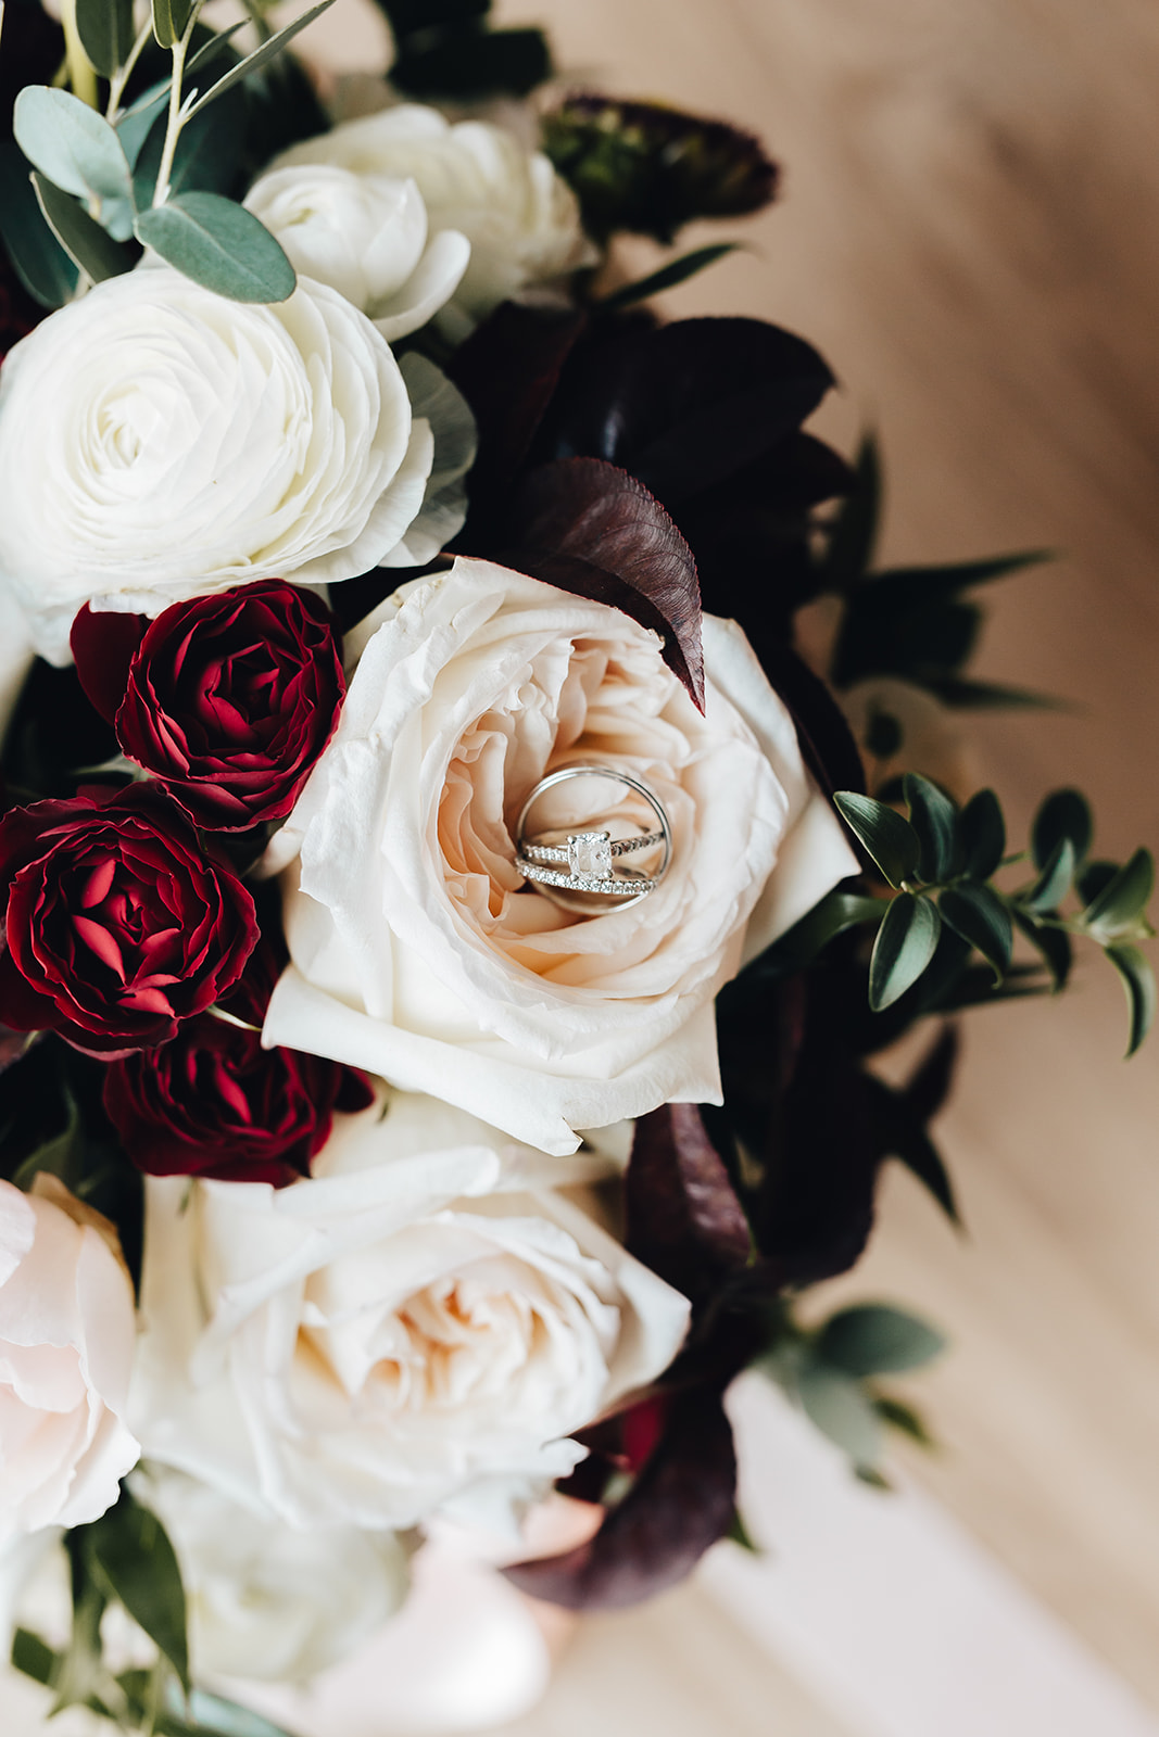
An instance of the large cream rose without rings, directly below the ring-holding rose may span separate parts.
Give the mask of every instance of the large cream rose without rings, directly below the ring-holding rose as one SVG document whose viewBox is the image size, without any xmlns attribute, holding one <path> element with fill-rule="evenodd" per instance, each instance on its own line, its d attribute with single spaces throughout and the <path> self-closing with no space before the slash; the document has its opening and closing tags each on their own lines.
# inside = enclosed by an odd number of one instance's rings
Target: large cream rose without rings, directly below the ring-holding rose
<svg viewBox="0 0 1159 1737">
<path fill-rule="evenodd" d="M 546 1166 L 606 1172 L 394 1094 L 290 1188 L 146 1178 L 146 1456 L 290 1525 L 448 1504 L 487 1522 L 532 1499 L 688 1320 Z"/>
</svg>

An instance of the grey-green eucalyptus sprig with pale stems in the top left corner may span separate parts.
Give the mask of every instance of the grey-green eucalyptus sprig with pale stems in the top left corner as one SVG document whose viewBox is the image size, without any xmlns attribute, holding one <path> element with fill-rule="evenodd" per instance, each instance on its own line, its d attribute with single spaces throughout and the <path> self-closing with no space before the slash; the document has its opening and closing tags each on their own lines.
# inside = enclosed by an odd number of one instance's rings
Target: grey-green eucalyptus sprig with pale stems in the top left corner
<svg viewBox="0 0 1159 1737">
<path fill-rule="evenodd" d="M 153 0 L 136 35 L 127 0 L 78 0 L 80 43 L 108 82 L 106 113 L 70 90 L 26 85 L 12 115 L 16 142 L 0 156 L 0 226 L 28 292 L 59 307 L 82 273 L 101 283 L 130 271 L 136 241 L 233 301 L 292 295 L 283 248 L 228 193 L 243 148 L 245 83 L 332 3 L 320 0 L 240 59 L 233 31 L 198 26 L 202 0 Z M 170 75 L 122 108 L 151 43 L 167 50 Z"/>
</svg>

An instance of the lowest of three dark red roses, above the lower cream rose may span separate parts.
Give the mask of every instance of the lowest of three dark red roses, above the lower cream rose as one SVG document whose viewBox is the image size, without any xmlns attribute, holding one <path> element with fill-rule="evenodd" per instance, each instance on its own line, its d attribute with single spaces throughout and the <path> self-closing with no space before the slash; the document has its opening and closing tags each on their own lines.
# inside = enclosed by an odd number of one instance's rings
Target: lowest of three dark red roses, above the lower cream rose
<svg viewBox="0 0 1159 1737">
<path fill-rule="evenodd" d="M 354 1068 L 262 1049 L 259 1032 L 209 1013 L 172 1044 L 113 1061 L 104 1080 L 104 1108 L 137 1169 L 275 1188 L 309 1174 L 335 1110 L 370 1103 Z"/>
</svg>

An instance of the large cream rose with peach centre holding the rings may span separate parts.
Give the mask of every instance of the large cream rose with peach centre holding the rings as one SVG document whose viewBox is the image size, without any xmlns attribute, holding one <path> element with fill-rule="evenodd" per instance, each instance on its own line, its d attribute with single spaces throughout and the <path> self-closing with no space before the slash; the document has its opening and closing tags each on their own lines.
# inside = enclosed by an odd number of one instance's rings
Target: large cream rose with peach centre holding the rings
<svg viewBox="0 0 1159 1737">
<path fill-rule="evenodd" d="M 292 964 L 266 1042 L 448 1098 L 544 1152 L 660 1103 L 719 1103 L 712 999 L 853 855 L 735 624 L 707 618 L 707 710 L 619 610 L 487 561 L 384 604 L 269 867 Z M 511 827 L 566 763 L 620 768 L 672 823 L 639 903 L 577 917 Z M 580 816 L 575 816 L 580 818 Z"/>
</svg>

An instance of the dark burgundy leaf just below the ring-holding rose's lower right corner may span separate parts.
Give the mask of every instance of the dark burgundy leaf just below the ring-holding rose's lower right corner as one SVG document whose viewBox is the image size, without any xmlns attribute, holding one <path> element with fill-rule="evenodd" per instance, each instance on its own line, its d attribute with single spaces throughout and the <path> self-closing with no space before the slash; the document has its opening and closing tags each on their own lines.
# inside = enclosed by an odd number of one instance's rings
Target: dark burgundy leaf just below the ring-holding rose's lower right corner
<svg viewBox="0 0 1159 1737">
<path fill-rule="evenodd" d="M 626 1176 L 627 1247 L 685 1296 L 749 1259 L 749 1221 L 695 1103 L 636 1122 Z"/>
</svg>

